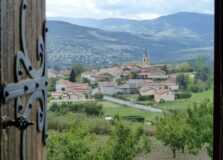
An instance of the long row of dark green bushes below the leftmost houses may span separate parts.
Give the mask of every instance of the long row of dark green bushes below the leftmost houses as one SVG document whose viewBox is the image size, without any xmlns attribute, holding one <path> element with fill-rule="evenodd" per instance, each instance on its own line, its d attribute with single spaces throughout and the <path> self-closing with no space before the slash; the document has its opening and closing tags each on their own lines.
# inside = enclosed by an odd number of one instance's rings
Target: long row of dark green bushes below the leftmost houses
<svg viewBox="0 0 223 160">
<path fill-rule="evenodd" d="M 49 108 L 50 112 L 57 113 L 59 115 L 65 115 L 68 112 L 73 113 L 86 113 L 91 116 L 103 115 L 103 106 L 97 102 L 85 102 L 85 103 L 62 103 L 52 104 Z"/>
</svg>

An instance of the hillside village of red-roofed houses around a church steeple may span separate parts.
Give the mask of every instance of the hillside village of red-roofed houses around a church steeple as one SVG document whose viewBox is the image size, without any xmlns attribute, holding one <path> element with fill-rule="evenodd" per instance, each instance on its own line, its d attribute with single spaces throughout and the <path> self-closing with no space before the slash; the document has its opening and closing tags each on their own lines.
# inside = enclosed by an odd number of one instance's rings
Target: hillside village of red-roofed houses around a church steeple
<svg viewBox="0 0 223 160">
<path fill-rule="evenodd" d="M 81 73 L 82 83 L 59 79 L 52 97 L 55 100 L 84 101 L 97 93 L 110 96 L 139 94 L 150 97 L 157 103 L 175 101 L 175 92 L 179 85 L 176 84 L 176 76 L 167 74 L 164 66 L 151 64 L 146 50 L 141 62 Z M 49 77 L 64 77 L 69 74 L 69 70 L 48 70 Z"/>
</svg>

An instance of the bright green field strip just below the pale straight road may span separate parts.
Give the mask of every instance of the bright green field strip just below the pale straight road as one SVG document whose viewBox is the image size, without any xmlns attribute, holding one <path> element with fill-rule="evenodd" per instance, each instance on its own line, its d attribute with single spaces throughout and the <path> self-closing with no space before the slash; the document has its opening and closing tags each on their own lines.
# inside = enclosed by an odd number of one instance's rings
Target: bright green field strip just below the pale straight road
<svg viewBox="0 0 223 160">
<path fill-rule="evenodd" d="M 146 121 L 154 121 L 156 116 L 161 116 L 161 113 L 154 113 L 144 110 L 139 110 L 135 108 L 130 108 L 127 106 L 114 104 L 111 102 L 100 102 L 103 105 L 104 115 L 120 115 L 120 116 L 143 116 Z"/>
</svg>

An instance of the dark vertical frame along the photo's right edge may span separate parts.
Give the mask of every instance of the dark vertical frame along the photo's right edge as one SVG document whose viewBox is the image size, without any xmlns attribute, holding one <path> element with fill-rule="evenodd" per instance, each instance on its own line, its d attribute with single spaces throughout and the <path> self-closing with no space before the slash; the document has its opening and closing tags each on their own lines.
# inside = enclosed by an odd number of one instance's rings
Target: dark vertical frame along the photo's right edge
<svg viewBox="0 0 223 160">
<path fill-rule="evenodd" d="M 223 1 L 215 0 L 215 45 L 214 45 L 214 143 L 213 160 L 223 160 Z"/>
</svg>

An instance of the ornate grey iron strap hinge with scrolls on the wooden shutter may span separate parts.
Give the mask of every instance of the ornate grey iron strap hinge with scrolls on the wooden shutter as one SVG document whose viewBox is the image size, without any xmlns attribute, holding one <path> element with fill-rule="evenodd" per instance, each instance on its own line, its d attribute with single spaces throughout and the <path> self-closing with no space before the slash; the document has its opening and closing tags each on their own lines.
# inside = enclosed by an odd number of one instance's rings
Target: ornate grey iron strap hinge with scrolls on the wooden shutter
<svg viewBox="0 0 223 160">
<path fill-rule="evenodd" d="M 37 38 L 37 60 L 40 61 L 40 67 L 34 68 L 28 57 L 25 39 L 26 10 L 27 0 L 21 0 L 20 6 L 20 51 L 15 57 L 15 81 L 13 84 L 5 84 L 3 87 L 3 100 L 7 103 L 15 100 L 15 119 L 5 121 L 3 127 L 17 127 L 20 134 L 20 160 L 25 160 L 25 134 L 26 129 L 34 122 L 30 121 L 30 112 L 35 101 L 40 102 L 37 111 L 37 131 L 42 133 L 43 144 L 46 144 L 47 125 L 46 125 L 46 106 L 47 106 L 47 55 L 46 55 L 46 23 L 43 23 L 43 35 Z M 25 70 L 25 73 L 22 72 Z M 29 79 L 22 79 L 28 76 Z M 21 97 L 27 96 L 28 101 L 22 104 Z"/>
</svg>

